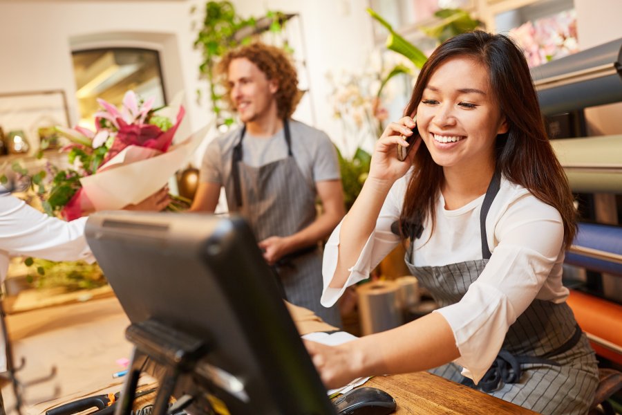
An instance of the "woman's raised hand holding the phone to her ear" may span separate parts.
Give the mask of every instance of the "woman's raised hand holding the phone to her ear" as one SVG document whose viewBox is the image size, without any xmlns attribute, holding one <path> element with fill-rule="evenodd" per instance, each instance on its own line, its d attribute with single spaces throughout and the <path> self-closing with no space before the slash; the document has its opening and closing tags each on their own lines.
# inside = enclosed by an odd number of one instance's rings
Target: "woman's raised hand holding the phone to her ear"
<svg viewBox="0 0 622 415">
<path fill-rule="evenodd" d="M 397 160 L 397 145 L 408 147 L 408 142 L 406 142 L 404 137 L 412 136 L 412 129 L 415 126 L 415 121 L 411 117 L 404 117 L 397 122 L 388 124 L 384 133 L 376 142 L 369 178 L 393 183 L 406 174 L 408 168 L 413 164 L 417 149 L 421 145 L 421 138 L 413 142 L 413 148 L 408 151 L 408 156 L 406 156 L 404 161 Z"/>
</svg>

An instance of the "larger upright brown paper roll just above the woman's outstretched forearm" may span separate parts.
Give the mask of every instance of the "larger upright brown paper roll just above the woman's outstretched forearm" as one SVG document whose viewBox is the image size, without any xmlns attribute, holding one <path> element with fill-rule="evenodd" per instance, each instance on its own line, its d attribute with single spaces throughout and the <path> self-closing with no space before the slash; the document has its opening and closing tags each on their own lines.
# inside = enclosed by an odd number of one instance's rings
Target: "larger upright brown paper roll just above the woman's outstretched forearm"
<svg viewBox="0 0 622 415">
<path fill-rule="evenodd" d="M 357 295 L 363 335 L 393 329 L 404 322 L 397 282 L 369 282 L 357 287 Z"/>
</svg>

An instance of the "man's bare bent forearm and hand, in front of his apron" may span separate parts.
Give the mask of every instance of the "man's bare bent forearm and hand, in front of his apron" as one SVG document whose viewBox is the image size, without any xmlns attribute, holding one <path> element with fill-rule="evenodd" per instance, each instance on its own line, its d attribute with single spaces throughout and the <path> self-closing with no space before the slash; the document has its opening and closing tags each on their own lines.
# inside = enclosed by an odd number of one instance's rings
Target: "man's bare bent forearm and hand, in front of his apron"
<svg viewBox="0 0 622 415">
<path fill-rule="evenodd" d="M 268 264 L 274 264 L 283 255 L 325 239 L 346 214 L 341 180 L 319 181 L 315 183 L 315 187 L 322 201 L 323 212 L 313 223 L 295 234 L 288 237 L 270 237 L 259 242 L 260 248 L 265 250 L 263 257 Z"/>
</svg>

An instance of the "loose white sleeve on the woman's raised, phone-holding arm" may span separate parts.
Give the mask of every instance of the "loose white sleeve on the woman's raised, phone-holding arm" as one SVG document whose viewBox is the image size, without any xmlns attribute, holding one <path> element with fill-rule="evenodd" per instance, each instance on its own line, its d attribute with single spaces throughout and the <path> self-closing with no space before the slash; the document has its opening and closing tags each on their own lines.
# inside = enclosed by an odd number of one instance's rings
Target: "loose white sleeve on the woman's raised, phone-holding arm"
<svg viewBox="0 0 622 415">
<path fill-rule="evenodd" d="M 370 271 L 401 241 L 396 234 L 391 232 L 391 224 L 399 219 L 405 190 L 406 181 L 404 178 L 396 181 L 393 187 L 391 187 L 378 215 L 376 226 L 365 243 L 363 250 L 361 250 L 361 255 L 359 255 L 356 264 L 348 266 L 350 276 L 346 280 L 346 284 L 341 288 L 330 288 L 328 286 L 334 275 L 334 270 L 337 268 L 341 223 L 332 231 L 324 247 L 322 262 L 324 288 L 320 303 L 323 306 L 332 306 L 348 286 L 369 278 Z"/>
</svg>

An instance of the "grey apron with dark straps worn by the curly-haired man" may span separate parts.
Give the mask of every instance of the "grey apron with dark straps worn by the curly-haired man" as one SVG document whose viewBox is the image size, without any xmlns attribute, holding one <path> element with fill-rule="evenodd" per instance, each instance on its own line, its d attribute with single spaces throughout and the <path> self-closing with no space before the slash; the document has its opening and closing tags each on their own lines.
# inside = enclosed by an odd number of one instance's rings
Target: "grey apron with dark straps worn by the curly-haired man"
<svg viewBox="0 0 622 415">
<path fill-rule="evenodd" d="M 229 210 L 248 221 L 257 241 L 287 237 L 310 225 L 317 216 L 316 190 L 305 180 L 292 155 L 290 125 L 283 120 L 288 157 L 261 167 L 243 163 L 242 141 L 234 147 L 232 176 L 225 183 Z M 322 252 L 317 244 L 292 252 L 273 267 L 283 289 L 283 297 L 296 306 L 314 311 L 328 324 L 341 327 L 339 308 L 323 307 Z"/>
</svg>

